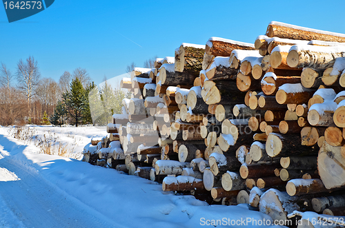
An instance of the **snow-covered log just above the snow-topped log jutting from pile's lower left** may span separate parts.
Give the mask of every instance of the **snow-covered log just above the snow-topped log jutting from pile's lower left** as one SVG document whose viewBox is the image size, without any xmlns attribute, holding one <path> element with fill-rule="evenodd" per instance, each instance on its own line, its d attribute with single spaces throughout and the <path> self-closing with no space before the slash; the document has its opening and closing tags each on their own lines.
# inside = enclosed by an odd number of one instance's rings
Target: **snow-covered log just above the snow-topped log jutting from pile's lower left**
<svg viewBox="0 0 345 228">
<path fill-rule="evenodd" d="M 177 160 L 158 160 L 155 163 L 156 174 L 181 174 L 183 168 L 190 167 L 190 163 L 180 163 Z"/>
</svg>

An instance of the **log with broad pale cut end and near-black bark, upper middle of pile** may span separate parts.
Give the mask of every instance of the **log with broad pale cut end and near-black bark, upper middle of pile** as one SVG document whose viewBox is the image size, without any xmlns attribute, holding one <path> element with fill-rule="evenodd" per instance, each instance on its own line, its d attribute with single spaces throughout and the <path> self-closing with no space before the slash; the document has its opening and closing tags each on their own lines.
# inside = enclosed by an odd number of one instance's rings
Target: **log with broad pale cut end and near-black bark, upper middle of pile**
<svg viewBox="0 0 345 228">
<path fill-rule="evenodd" d="M 237 92 L 237 86 L 233 81 L 219 80 L 205 81 L 201 96 L 208 105 L 235 105 L 243 102 L 245 94 Z"/>
</svg>

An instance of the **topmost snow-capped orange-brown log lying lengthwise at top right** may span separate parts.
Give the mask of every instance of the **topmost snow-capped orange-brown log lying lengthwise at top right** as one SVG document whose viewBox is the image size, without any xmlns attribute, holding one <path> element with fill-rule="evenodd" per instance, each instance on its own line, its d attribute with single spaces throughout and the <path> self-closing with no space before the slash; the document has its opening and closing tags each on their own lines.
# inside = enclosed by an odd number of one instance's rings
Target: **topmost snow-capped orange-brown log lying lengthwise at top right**
<svg viewBox="0 0 345 228">
<path fill-rule="evenodd" d="M 296 25 L 289 25 L 277 21 L 272 21 L 268 25 L 266 35 L 268 37 L 279 37 L 284 39 L 299 40 L 318 40 L 318 41 L 334 41 L 345 42 L 344 35 L 335 32 L 326 32 L 321 30 L 313 30 Z"/>
</svg>

